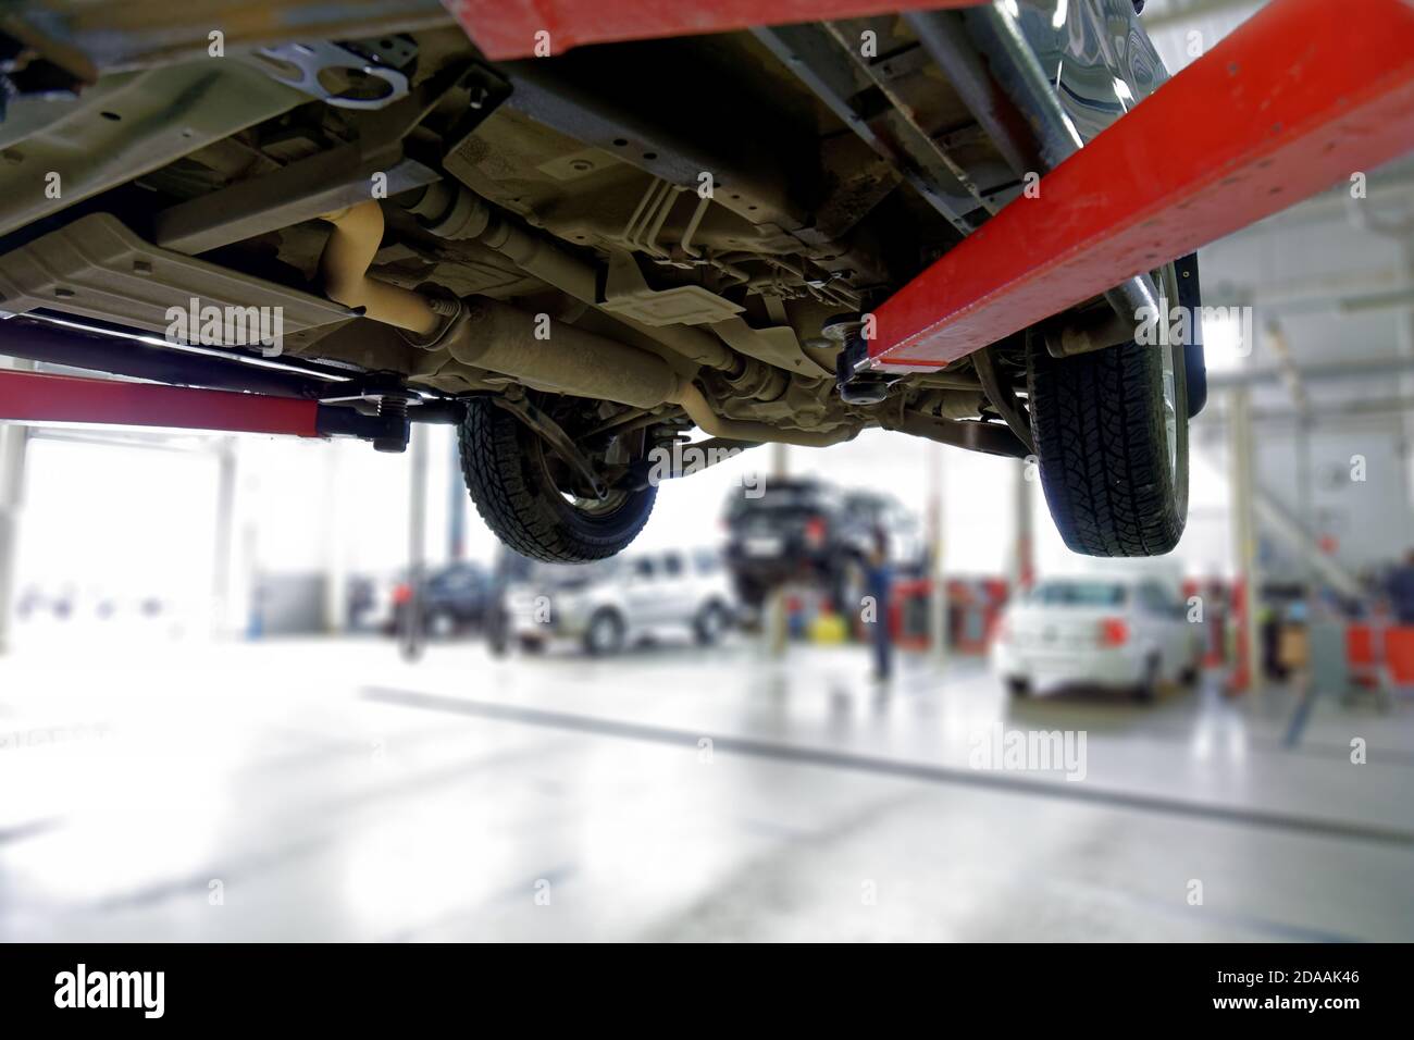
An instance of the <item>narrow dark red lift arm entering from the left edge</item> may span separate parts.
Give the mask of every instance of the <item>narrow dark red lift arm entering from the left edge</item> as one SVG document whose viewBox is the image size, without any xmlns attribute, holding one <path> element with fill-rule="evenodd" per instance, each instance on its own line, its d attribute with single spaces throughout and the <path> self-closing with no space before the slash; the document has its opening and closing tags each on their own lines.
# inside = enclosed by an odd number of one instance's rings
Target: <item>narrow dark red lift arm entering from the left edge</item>
<svg viewBox="0 0 1414 1040">
<path fill-rule="evenodd" d="M 314 400 L 0 372 L 0 422 L 112 423 L 318 437 Z"/>
</svg>

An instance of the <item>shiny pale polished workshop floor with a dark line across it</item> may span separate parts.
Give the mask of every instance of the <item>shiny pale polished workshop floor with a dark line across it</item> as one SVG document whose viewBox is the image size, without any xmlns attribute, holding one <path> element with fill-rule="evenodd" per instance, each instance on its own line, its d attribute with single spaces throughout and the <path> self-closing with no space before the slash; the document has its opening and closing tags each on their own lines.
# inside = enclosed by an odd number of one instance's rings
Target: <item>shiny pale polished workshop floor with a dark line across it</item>
<svg viewBox="0 0 1414 1040">
<path fill-rule="evenodd" d="M 21 652 L 0 940 L 1414 940 L 1408 700 L 1294 726 L 1285 691 L 1011 703 L 905 665 Z M 1053 730 L 1083 778 L 977 768 Z"/>
</svg>

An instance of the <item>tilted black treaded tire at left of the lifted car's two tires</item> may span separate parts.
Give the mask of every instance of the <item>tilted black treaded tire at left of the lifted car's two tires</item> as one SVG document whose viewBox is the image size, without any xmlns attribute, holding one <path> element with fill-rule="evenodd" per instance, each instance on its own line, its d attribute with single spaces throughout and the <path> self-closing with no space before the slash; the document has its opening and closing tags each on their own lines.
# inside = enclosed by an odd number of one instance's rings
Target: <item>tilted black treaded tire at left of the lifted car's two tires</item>
<svg viewBox="0 0 1414 1040">
<path fill-rule="evenodd" d="M 656 487 L 580 505 L 556 487 L 539 436 L 491 400 L 467 402 L 461 473 L 477 512 L 515 552 L 547 563 L 588 563 L 622 550 L 648 522 Z"/>
</svg>

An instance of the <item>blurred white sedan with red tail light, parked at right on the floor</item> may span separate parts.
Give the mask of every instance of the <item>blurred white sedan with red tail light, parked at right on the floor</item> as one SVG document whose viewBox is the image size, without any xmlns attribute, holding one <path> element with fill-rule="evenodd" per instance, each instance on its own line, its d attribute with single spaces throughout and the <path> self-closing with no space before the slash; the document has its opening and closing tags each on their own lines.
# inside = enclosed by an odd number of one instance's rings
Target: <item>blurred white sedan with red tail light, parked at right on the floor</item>
<svg viewBox="0 0 1414 1040">
<path fill-rule="evenodd" d="M 1148 577 L 1068 577 L 1039 583 L 1001 616 L 993 671 L 1017 696 L 1069 685 L 1133 691 L 1192 685 L 1202 661 L 1182 600 Z"/>
</svg>

